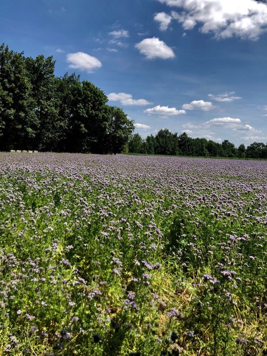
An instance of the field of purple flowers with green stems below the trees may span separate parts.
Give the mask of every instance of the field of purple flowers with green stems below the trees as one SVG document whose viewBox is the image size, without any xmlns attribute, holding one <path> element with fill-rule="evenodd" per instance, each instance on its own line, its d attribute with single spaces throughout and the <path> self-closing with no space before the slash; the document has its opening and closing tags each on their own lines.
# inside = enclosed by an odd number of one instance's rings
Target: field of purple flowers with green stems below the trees
<svg viewBox="0 0 267 356">
<path fill-rule="evenodd" d="M 267 354 L 267 162 L 0 154 L 0 355 Z"/>
</svg>

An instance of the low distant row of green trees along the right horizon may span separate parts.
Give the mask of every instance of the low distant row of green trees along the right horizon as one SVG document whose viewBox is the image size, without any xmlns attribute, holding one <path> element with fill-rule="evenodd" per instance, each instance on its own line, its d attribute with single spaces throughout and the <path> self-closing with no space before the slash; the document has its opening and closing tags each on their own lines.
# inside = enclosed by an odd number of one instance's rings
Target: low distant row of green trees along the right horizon
<svg viewBox="0 0 267 356">
<path fill-rule="evenodd" d="M 167 129 L 162 129 L 156 136 L 149 135 L 145 139 L 142 139 L 138 133 L 132 135 L 126 152 L 199 157 L 267 158 L 267 145 L 254 142 L 246 148 L 242 143 L 237 148 L 228 140 L 219 143 L 205 138 L 192 138 L 185 132 L 178 136 L 177 133 L 173 134 Z"/>
</svg>

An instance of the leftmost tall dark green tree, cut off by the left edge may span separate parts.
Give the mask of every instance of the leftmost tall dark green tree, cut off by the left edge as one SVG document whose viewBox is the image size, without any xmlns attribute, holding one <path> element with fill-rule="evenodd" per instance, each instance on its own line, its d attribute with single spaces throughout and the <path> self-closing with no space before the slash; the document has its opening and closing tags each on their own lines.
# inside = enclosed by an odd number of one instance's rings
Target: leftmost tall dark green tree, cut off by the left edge
<svg viewBox="0 0 267 356">
<path fill-rule="evenodd" d="M 1 150 L 24 149 L 36 139 L 38 118 L 23 53 L 0 46 Z"/>
</svg>

